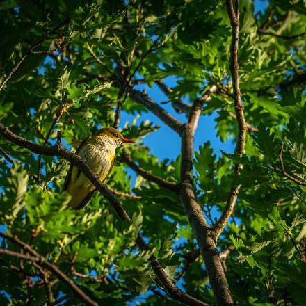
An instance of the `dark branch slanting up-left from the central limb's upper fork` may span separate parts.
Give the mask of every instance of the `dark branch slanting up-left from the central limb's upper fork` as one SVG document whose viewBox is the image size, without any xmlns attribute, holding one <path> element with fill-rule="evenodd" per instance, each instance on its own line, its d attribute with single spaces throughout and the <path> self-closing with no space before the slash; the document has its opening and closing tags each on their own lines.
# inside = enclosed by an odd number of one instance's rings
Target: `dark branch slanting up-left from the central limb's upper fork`
<svg viewBox="0 0 306 306">
<path fill-rule="evenodd" d="M 140 92 L 139 90 L 135 90 L 131 88 L 131 86 L 127 87 L 127 92 L 129 93 L 129 97 L 131 99 L 134 99 L 134 101 L 138 102 L 139 104 L 143 104 L 145 108 L 152 111 L 152 113 L 154 113 L 154 115 L 156 115 L 161 121 L 166 123 L 168 127 L 176 131 L 178 134 L 181 133 L 183 128 L 182 122 L 172 117 L 172 115 L 159 106 L 159 104 L 150 99 L 147 94 Z"/>
</svg>

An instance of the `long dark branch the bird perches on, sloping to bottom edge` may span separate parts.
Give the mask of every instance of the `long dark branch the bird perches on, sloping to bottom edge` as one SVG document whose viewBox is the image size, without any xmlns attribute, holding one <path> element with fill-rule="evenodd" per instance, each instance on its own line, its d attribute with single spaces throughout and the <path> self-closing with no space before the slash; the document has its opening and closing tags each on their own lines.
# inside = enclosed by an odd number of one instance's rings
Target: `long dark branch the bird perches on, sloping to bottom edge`
<svg viewBox="0 0 306 306">
<path fill-rule="evenodd" d="M 99 177 L 97 177 L 97 175 L 95 175 L 95 173 L 92 172 L 90 168 L 88 168 L 88 166 L 83 161 L 83 159 L 81 159 L 80 156 L 67 151 L 61 145 L 57 145 L 54 147 L 43 147 L 41 145 L 31 143 L 31 141 L 13 134 L 1 122 L 0 133 L 10 142 L 15 143 L 15 145 L 25 147 L 33 153 L 43 154 L 47 156 L 59 156 L 67 161 L 70 161 L 70 163 L 79 168 L 83 172 L 83 174 L 86 175 L 86 177 L 90 180 L 90 182 L 95 186 L 95 188 L 97 188 L 97 190 L 101 192 L 102 195 L 104 195 L 104 197 L 110 202 L 113 209 L 115 209 L 118 216 L 120 216 L 122 220 L 127 220 L 128 222 L 131 222 L 131 218 L 122 207 L 120 201 L 115 198 L 115 195 L 111 193 L 111 191 L 107 188 L 106 185 L 100 182 Z M 136 242 L 141 250 L 149 250 L 147 243 L 145 243 L 145 241 L 140 235 L 138 236 L 138 239 L 136 239 Z M 156 259 L 156 257 L 152 255 L 152 257 L 150 257 L 150 262 L 152 264 L 154 272 L 156 273 L 157 277 L 159 277 L 160 282 L 163 284 L 163 286 L 166 288 L 166 290 L 173 299 L 179 300 L 182 303 L 185 303 L 186 305 L 207 306 L 206 303 L 203 303 L 200 300 L 193 298 L 192 296 L 188 296 L 188 294 L 175 287 L 175 284 L 170 281 L 168 275 L 166 274 L 166 271 L 160 266 L 159 261 Z"/>
</svg>

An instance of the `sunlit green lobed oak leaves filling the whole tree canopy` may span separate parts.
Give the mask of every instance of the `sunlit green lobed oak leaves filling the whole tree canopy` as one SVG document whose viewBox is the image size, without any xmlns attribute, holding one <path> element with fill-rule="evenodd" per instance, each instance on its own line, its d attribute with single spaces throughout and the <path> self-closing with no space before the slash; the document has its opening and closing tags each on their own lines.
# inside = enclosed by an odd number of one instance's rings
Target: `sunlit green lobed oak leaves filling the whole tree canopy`
<svg viewBox="0 0 306 306">
<path fill-rule="evenodd" d="M 166 291 L 152 256 L 188 295 L 221 305 L 211 250 L 220 253 L 221 276 L 237 305 L 305 305 L 305 3 L 270 1 L 255 10 L 258 4 L 239 6 L 245 152 L 217 156 L 204 140 L 193 148 L 188 132 L 200 109 L 199 115 L 216 115 L 220 140 L 242 140 L 225 1 L 1 1 L 4 126 L 45 147 L 56 145 L 61 131 L 63 145 L 75 152 L 100 127 L 116 127 L 124 113 L 134 121 L 121 120 L 122 133 L 136 141 L 118 150 L 106 180 L 129 223 L 101 193 L 86 209 L 66 207 L 67 159 L 33 154 L 1 129 L 3 232 L 31 246 L 99 305 L 182 302 Z M 166 93 L 164 104 L 173 111 L 140 90 L 143 84 Z M 182 137 L 175 159 L 161 160 L 144 145 L 159 129 L 144 119 L 148 111 Z M 180 122 L 177 113 L 187 119 Z M 191 150 L 190 163 L 184 148 Z M 186 200 L 188 192 L 194 196 Z M 238 196 L 234 211 L 231 193 Z M 139 234 L 149 249 L 140 248 Z M 41 260 L 18 257 L 36 255 L 13 239 L 3 237 L 1 250 L 1 304 L 86 303 Z"/>
</svg>

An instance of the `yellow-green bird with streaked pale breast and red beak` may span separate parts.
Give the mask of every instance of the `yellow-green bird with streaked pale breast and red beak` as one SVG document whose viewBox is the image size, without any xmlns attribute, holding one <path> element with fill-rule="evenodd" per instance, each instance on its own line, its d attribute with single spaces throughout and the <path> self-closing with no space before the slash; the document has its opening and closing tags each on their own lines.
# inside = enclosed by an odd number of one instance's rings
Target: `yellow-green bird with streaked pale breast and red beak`
<svg viewBox="0 0 306 306">
<path fill-rule="evenodd" d="M 113 167 L 115 150 L 122 143 L 134 143 L 134 141 L 124 138 L 113 127 L 106 127 L 97 131 L 95 135 L 84 139 L 77 148 L 76 154 L 81 156 L 87 166 L 99 175 L 101 182 L 104 182 Z M 71 165 L 67 172 L 63 191 L 67 191 L 72 196 L 68 205 L 74 209 L 81 209 L 86 207 L 96 189 L 81 170 Z"/>
</svg>

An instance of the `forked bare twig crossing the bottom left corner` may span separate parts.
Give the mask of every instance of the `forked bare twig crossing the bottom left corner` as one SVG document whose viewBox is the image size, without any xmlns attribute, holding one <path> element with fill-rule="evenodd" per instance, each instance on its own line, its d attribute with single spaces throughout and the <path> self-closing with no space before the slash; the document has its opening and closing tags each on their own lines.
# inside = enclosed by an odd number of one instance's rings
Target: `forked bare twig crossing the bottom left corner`
<svg viewBox="0 0 306 306">
<path fill-rule="evenodd" d="M 49 271 L 54 273 L 58 278 L 63 280 L 63 282 L 65 282 L 74 291 L 74 293 L 76 293 L 77 296 L 79 296 L 79 298 L 81 298 L 81 300 L 83 300 L 85 303 L 88 303 L 88 305 L 94 305 L 94 306 L 98 305 L 89 296 L 87 296 L 86 293 L 84 293 L 77 286 L 77 284 L 74 284 L 74 282 L 72 280 L 70 280 L 70 278 L 67 277 L 67 275 L 65 275 L 65 273 L 63 273 L 54 264 L 51 264 L 49 261 L 47 261 L 47 259 L 45 259 L 45 257 L 38 254 L 37 251 L 33 250 L 33 248 L 31 248 L 31 246 L 29 244 L 24 243 L 23 241 L 21 241 L 16 236 L 14 236 L 14 237 L 9 236 L 8 234 L 5 234 L 3 232 L 0 232 L 0 236 L 2 236 L 4 239 L 8 239 L 10 242 L 12 242 L 16 245 L 19 245 L 20 248 L 23 248 L 26 252 L 29 252 L 30 255 L 26 255 L 26 254 L 22 254 L 20 252 L 15 252 L 15 251 L 6 250 L 6 249 L 0 249 L 0 254 L 10 255 L 10 256 L 17 257 L 17 258 L 20 258 L 20 259 L 24 259 L 24 260 L 27 260 L 27 261 L 36 262 L 40 266 L 45 266 L 45 268 L 47 268 Z"/>
</svg>

